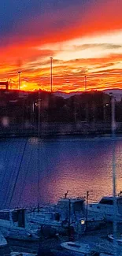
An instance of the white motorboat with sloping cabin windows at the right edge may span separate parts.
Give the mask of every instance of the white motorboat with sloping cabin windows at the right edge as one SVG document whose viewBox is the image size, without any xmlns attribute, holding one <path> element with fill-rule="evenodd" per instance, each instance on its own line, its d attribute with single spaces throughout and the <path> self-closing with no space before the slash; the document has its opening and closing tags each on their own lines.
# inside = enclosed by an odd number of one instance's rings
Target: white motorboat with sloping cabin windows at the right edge
<svg viewBox="0 0 122 256">
<path fill-rule="evenodd" d="M 113 221 L 113 196 L 104 196 L 99 202 L 92 202 L 87 206 L 88 216 L 92 216 L 95 220 L 102 217 L 105 221 Z M 116 221 L 122 222 L 122 196 L 116 196 Z"/>
</svg>

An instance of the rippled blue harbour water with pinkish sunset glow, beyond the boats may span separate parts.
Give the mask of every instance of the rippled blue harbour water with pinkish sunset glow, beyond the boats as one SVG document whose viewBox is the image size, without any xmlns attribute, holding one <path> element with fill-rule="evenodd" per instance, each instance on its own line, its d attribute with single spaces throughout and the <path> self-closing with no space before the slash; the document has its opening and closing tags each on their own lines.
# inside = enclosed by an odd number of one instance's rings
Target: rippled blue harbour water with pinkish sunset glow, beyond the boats
<svg viewBox="0 0 122 256">
<path fill-rule="evenodd" d="M 8 139 L 0 143 L 1 208 L 57 202 L 71 196 L 90 199 L 113 193 L 112 139 Z M 116 140 L 117 192 L 122 190 L 122 139 Z M 39 184 L 38 184 L 39 180 Z M 14 193 L 13 193 L 14 190 Z M 13 195 L 13 197 L 12 197 Z"/>
</svg>

